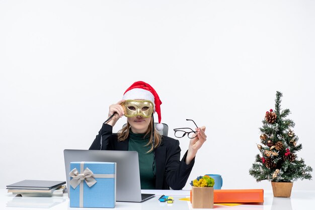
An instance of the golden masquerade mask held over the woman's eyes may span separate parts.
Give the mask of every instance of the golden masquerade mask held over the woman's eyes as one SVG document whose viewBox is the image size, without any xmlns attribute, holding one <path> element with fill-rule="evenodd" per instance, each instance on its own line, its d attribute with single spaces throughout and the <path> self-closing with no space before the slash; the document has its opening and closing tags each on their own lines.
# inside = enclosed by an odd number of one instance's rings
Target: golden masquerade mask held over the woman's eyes
<svg viewBox="0 0 315 210">
<path fill-rule="evenodd" d="M 126 100 L 121 104 L 125 111 L 126 117 L 134 117 L 140 115 L 142 117 L 150 117 L 153 113 L 153 103 L 146 100 Z"/>
</svg>

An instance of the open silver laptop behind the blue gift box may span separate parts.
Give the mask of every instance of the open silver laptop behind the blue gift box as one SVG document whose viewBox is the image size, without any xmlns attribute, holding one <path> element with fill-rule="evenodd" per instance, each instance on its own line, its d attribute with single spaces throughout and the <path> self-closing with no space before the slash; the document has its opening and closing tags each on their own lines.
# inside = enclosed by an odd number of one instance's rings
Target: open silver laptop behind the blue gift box
<svg viewBox="0 0 315 210">
<path fill-rule="evenodd" d="M 70 189 L 70 162 L 116 163 L 116 201 L 142 202 L 155 194 L 141 194 L 138 152 L 109 150 L 64 150 L 67 189 Z M 70 190 L 68 190 L 70 196 Z"/>
</svg>

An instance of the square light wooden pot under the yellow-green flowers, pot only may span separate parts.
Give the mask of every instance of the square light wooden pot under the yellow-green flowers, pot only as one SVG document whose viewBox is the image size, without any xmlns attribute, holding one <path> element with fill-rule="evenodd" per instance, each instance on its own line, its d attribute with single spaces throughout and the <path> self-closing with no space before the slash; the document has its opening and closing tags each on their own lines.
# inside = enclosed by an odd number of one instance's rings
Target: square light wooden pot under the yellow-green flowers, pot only
<svg viewBox="0 0 315 210">
<path fill-rule="evenodd" d="M 192 187 L 193 208 L 213 208 L 213 187 Z"/>
</svg>

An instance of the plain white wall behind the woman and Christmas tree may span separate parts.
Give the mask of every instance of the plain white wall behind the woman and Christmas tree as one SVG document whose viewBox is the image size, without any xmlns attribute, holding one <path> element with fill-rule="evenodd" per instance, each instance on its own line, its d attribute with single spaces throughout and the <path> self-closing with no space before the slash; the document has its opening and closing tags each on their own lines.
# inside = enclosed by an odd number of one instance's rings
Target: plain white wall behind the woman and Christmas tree
<svg viewBox="0 0 315 210">
<path fill-rule="evenodd" d="M 65 180 L 63 150 L 88 149 L 138 80 L 159 93 L 169 136 L 194 126 L 186 118 L 206 126 L 188 183 L 217 173 L 222 189 L 271 189 L 249 169 L 276 91 L 296 123 L 297 155 L 315 168 L 314 11 L 301 0 L 0 0 L 0 188 Z"/>
</svg>

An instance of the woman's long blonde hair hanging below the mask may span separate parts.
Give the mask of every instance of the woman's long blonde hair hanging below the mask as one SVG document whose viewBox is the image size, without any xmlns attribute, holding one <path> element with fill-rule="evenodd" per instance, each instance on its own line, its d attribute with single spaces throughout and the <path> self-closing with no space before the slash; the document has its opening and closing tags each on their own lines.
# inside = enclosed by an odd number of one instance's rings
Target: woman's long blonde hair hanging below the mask
<svg viewBox="0 0 315 210">
<path fill-rule="evenodd" d="M 130 124 L 129 122 L 127 121 L 127 125 L 123 128 L 121 128 L 121 130 L 118 131 L 118 141 L 119 142 L 123 142 L 125 141 L 128 136 L 129 136 L 129 129 L 130 129 Z M 149 142 L 145 145 L 145 146 L 148 146 L 148 145 L 151 145 L 151 148 L 150 150 L 147 152 L 147 153 L 150 153 L 153 151 L 153 136 L 152 136 L 152 129 L 154 129 L 153 127 L 153 120 L 152 120 L 152 116 L 151 116 L 151 121 L 149 123 L 149 126 L 145 132 L 145 136 L 147 135 L 150 135 L 149 137 Z M 157 132 L 155 129 L 154 129 L 154 149 L 159 147 L 160 144 L 161 144 L 161 141 L 162 141 L 162 136 L 159 132 Z"/>
</svg>

